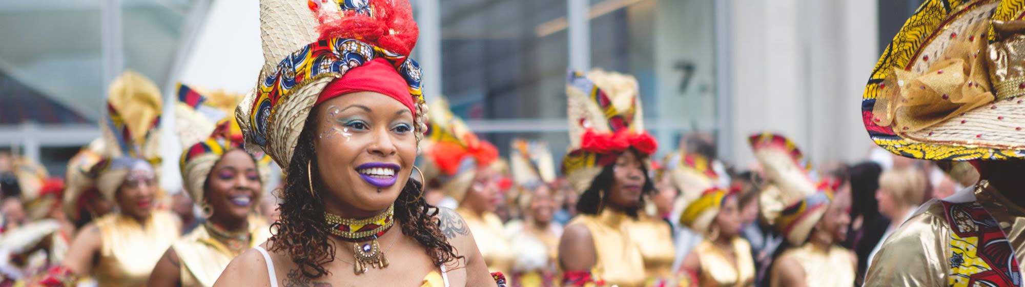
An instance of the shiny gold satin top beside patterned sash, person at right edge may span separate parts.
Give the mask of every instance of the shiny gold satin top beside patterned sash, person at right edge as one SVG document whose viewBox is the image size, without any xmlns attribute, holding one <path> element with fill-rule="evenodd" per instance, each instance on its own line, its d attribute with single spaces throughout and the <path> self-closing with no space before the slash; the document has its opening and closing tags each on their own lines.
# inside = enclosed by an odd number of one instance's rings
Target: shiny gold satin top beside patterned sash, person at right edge
<svg viewBox="0 0 1025 287">
<path fill-rule="evenodd" d="M 974 189 L 974 188 L 973 188 Z M 1014 248 L 1018 268 L 1025 265 L 1025 209 L 992 188 L 976 191 L 976 202 L 999 223 Z M 948 286 L 950 224 L 943 204 L 929 203 L 883 243 L 865 275 L 865 286 Z"/>
</svg>

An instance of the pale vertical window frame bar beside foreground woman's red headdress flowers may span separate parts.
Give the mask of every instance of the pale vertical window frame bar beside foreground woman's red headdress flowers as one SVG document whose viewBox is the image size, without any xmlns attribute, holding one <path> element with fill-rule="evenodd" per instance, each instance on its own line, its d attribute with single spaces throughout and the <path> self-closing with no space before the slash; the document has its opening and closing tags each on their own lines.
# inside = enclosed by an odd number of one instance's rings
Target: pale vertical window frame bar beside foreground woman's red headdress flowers
<svg viewBox="0 0 1025 287">
<path fill-rule="evenodd" d="M 419 49 L 420 69 L 423 72 L 423 94 L 428 100 L 441 95 L 442 89 L 442 22 L 439 0 L 419 0 L 417 25 L 420 28 L 420 39 L 416 44 Z"/>
</svg>

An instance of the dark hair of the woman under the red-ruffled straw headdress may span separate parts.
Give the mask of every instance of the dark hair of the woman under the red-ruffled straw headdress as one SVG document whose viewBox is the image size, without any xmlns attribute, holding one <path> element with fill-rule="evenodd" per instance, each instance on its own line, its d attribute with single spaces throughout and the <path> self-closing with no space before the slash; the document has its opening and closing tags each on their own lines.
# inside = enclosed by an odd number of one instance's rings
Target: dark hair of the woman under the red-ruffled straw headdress
<svg viewBox="0 0 1025 287">
<path fill-rule="evenodd" d="M 630 153 L 638 156 L 639 159 L 644 157 L 637 150 L 632 148 L 629 149 Z M 615 164 L 609 164 L 602 167 L 602 172 L 594 176 L 594 180 L 590 181 L 590 187 L 587 188 L 582 194 L 580 194 L 580 200 L 577 201 L 577 212 L 583 214 L 598 214 L 605 207 L 608 202 L 608 196 L 602 197 L 602 192 L 616 181 L 615 174 Z M 638 210 L 645 204 L 645 196 L 655 192 L 655 183 L 652 182 L 651 176 L 648 175 L 648 166 L 641 165 L 641 172 L 644 173 L 644 187 L 641 189 L 641 201 L 637 206 L 627 208 L 624 210 L 627 215 L 631 217 L 638 216 Z"/>
</svg>

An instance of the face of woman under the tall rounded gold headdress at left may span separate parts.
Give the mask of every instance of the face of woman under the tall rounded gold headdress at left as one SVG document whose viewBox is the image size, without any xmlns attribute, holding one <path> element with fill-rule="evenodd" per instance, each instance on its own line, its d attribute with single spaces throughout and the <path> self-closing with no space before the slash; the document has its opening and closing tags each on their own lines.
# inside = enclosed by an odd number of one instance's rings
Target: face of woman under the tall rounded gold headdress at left
<svg viewBox="0 0 1025 287">
<path fill-rule="evenodd" d="M 122 213 L 135 218 L 146 218 L 153 212 L 153 199 L 156 195 L 156 172 L 149 163 L 139 163 L 128 171 L 115 198 Z"/>
</svg>

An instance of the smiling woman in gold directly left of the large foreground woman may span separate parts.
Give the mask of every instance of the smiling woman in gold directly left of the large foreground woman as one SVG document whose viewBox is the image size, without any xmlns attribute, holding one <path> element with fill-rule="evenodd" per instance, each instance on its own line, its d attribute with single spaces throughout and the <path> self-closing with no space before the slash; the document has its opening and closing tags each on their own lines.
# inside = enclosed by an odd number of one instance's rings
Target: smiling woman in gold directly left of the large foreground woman
<svg viewBox="0 0 1025 287">
<path fill-rule="evenodd" d="M 242 150 L 234 108 L 241 96 L 178 85 L 175 128 L 181 144 L 181 181 L 206 218 L 168 248 L 149 286 L 213 286 L 228 263 L 270 236 L 253 214 L 268 170 Z M 203 134 L 206 134 L 205 136 Z"/>
</svg>

